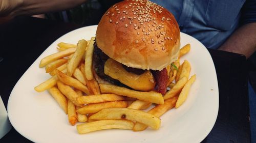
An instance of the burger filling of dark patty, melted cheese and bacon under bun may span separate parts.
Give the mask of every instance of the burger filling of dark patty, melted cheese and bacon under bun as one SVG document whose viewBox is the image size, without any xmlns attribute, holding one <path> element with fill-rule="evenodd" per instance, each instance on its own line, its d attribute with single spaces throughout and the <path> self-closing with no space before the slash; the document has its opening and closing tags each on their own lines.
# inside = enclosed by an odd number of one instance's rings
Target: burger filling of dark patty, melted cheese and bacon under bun
<svg viewBox="0 0 256 143">
<path fill-rule="evenodd" d="M 101 79 L 138 91 L 151 91 L 164 95 L 166 93 L 168 74 L 166 68 L 161 71 L 142 70 L 127 67 L 109 58 L 94 43 L 93 67 Z"/>
</svg>

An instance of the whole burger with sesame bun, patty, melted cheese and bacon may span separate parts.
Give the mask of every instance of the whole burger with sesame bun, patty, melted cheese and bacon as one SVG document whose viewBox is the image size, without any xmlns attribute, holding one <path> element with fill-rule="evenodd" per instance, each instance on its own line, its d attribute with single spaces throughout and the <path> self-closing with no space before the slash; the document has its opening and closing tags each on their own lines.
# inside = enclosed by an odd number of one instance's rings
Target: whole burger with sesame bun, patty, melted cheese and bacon
<svg viewBox="0 0 256 143">
<path fill-rule="evenodd" d="M 94 74 L 99 83 L 164 95 L 179 48 L 180 30 L 172 13 L 151 1 L 122 1 L 98 24 Z"/>
</svg>

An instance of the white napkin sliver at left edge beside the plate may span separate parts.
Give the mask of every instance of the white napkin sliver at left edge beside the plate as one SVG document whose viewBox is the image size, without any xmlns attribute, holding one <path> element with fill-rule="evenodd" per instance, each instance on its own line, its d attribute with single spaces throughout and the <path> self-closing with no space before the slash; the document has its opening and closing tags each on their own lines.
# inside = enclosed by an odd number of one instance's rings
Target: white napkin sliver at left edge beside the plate
<svg viewBox="0 0 256 143">
<path fill-rule="evenodd" d="M 0 139 L 6 135 L 12 128 L 12 125 L 8 119 L 8 114 L 4 105 L 4 102 L 0 96 Z"/>
</svg>

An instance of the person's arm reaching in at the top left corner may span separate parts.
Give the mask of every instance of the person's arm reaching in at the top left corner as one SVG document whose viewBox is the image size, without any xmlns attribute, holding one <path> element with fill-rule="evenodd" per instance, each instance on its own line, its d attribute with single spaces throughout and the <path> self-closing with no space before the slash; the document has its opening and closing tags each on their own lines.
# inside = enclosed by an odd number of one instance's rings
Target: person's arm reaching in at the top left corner
<svg viewBox="0 0 256 143">
<path fill-rule="evenodd" d="M 0 17 L 35 15 L 78 6 L 86 0 L 0 0 Z"/>
</svg>

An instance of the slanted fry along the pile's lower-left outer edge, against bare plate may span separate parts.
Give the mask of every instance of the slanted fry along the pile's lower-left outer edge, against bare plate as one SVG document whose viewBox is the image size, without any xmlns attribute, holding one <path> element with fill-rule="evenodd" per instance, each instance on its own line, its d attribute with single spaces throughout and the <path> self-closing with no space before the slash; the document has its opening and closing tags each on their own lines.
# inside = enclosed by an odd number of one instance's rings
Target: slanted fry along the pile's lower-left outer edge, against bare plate
<svg viewBox="0 0 256 143">
<path fill-rule="evenodd" d="M 52 87 L 48 89 L 49 93 L 52 97 L 58 102 L 59 106 L 63 109 L 63 111 L 68 113 L 68 101 L 67 98 L 56 88 Z"/>
</svg>

